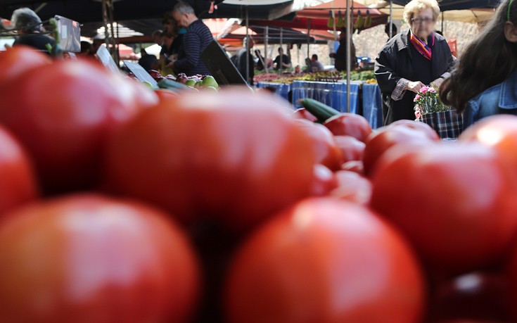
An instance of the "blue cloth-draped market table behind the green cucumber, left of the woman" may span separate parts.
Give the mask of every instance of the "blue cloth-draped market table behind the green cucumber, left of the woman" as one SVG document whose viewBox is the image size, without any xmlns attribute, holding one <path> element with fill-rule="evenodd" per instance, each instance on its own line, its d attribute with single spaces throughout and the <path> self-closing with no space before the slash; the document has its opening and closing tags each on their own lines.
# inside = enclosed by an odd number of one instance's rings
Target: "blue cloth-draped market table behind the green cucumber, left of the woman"
<svg viewBox="0 0 517 323">
<path fill-rule="evenodd" d="M 350 84 L 350 113 L 359 112 L 359 87 L 361 82 Z M 314 99 L 340 111 L 347 112 L 347 84 L 345 82 L 307 82 L 294 81 L 293 106 L 301 108 L 299 99 Z"/>
</svg>

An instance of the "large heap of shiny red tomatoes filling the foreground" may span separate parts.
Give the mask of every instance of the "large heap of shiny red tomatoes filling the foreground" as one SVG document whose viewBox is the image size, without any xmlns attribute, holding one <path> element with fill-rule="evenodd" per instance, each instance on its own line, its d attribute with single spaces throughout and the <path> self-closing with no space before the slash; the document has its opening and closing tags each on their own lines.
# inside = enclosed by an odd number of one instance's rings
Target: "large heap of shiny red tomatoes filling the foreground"
<svg viewBox="0 0 517 323">
<path fill-rule="evenodd" d="M 517 118 L 440 141 L 0 53 L 0 322 L 517 322 Z"/>
</svg>

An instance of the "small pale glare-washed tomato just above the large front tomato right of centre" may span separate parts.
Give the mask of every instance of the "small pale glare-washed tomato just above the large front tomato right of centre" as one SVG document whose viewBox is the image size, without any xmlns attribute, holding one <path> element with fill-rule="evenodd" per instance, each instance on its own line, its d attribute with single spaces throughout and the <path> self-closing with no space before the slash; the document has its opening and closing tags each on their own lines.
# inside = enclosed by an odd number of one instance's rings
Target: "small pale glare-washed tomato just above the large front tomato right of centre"
<svg viewBox="0 0 517 323">
<path fill-rule="evenodd" d="M 342 200 L 368 205 L 371 199 L 371 182 L 347 170 L 340 170 L 335 174 L 338 187 L 331 191 L 331 196 Z"/>
</svg>

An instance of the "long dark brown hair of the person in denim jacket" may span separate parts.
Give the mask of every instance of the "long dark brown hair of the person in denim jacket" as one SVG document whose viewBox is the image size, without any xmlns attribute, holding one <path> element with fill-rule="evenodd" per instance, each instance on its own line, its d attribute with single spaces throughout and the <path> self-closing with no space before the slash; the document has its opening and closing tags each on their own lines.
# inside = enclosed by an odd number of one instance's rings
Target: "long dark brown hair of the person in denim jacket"
<svg viewBox="0 0 517 323">
<path fill-rule="evenodd" d="M 452 76 L 443 82 L 440 99 L 463 112 L 468 101 L 504 82 L 517 67 L 517 44 L 504 36 L 504 24 L 517 26 L 517 2 L 504 0 L 479 37 L 468 44 Z"/>
</svg>

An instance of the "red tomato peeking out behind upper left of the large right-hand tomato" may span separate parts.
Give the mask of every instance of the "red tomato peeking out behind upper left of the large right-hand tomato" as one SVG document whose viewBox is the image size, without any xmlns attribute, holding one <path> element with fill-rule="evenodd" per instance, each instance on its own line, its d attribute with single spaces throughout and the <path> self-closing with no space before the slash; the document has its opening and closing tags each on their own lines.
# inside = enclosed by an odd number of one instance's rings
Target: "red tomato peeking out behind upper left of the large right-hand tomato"
<svg viewBox="0 0 517 323">
<path fill-rule="evenodd" d="M 382 127 L 366 139 L 363 156 L 364 172 L 368 177 L 373 177 L 378 160 L 392 146 L 428 145 L 439 140 L 440 138 L 430 139 L 425 132 L 409 127 Z"/>
</svg>

